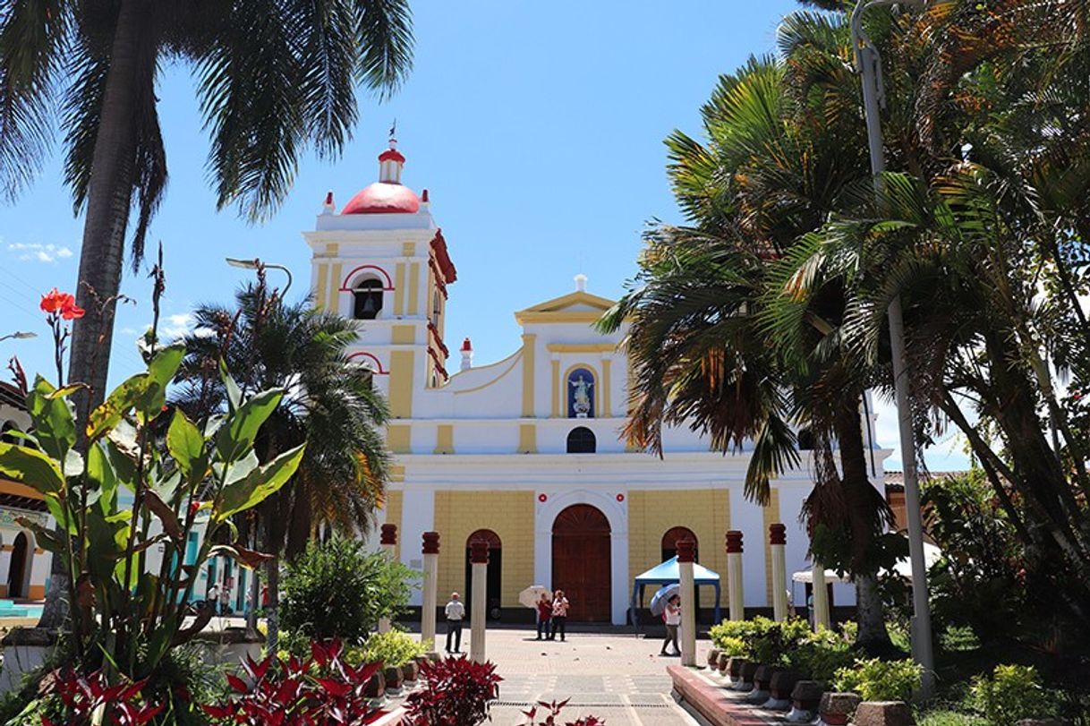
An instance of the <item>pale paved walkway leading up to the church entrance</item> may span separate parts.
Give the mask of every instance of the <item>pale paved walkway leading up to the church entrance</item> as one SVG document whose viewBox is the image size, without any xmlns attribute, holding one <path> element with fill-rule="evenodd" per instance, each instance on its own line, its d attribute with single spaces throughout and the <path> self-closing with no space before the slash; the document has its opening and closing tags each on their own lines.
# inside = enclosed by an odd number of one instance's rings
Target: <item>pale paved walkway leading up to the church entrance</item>
<svg viewBox="0 0 1090 726">
<path fill-rule="evenodd" d="M 439 626 L 440 632 L 443 626 Z M 469 650 L 469 629 L 462 650 Z M 439 637 L 443 648 L 444 637 Z M 561 722 L 594 715 L 607 726 L 694 726 L 670 697 L 659 641 L 634 636 L 569 633 L 566 642 L 536 641 L 530 630 L 489 630 L 487 656 L 504 677 L 494 705 L 496 726 L 526 723 L 521 711 L 537 701 L 571 703 Z"/>
</svg>

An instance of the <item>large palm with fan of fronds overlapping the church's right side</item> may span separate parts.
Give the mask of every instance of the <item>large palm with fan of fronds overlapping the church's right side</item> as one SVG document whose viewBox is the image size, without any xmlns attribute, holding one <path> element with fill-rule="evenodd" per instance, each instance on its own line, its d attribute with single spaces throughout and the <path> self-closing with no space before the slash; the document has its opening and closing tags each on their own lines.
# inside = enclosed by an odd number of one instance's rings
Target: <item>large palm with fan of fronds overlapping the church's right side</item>
<svg viewBox="0 0 1090 726">
<path fill-rule="evenodd" d="M 843 565 L 857 581 L 859 641 L 882 649 L 889 641 L 875 552 L 888 508 L 870 483 L 860 426 L 868 372 L 839 344 L 843 290 L 829 286 L 803 305 L 775 287 L 777 261 L 865 180 L 865 145 L 858 102 L 845 101 L 851 74 L 836 62 L 847 52 L 845 28 L 813 13 L 784 27 L 785 60 L 751 59 L 720 78 L 702 109 L 706 145 L 680 132 L 667 141 L 692 226 L 651 230 L 639 287 L 603 325 L 631 325 L 634 444 L 661 451 L 664 424 L 705 431 L 724 451 L 752 438 L 746 493 L 765 501 L 770 477 L 799 462 L 791 424 L 810 429 L 819 486 L 807 515 L 850 533 Z M 821 64 L 825 87 L 815 90 L 806 72 Z M 835 93 L 834 81 L 847 88 Z"/>
</svg>

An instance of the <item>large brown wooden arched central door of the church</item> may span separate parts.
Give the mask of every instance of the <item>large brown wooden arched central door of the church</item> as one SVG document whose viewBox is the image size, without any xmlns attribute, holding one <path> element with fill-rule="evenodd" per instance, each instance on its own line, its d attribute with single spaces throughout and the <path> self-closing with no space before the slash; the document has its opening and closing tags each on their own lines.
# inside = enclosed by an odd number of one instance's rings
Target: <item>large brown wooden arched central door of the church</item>
<svg viewBox="0 0 1090 726">
<path fill-rule="evenodd" d="M 553 589 L 571 601 L 576 621 L 609 622 L 613 604 L 609 520 L 590 505 L 572 505 L 553 522 Z"/>
</svg>

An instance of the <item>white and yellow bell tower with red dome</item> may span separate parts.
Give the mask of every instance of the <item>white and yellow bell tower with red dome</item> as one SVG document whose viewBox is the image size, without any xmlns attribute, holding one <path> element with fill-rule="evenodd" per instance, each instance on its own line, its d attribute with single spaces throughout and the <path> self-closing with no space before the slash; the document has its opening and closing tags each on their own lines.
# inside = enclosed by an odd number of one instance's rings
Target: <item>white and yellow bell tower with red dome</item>
<svg viewBox="0 0 1090 726">
<path fill-rule="evenodd" d="M 427 190 L 417 196 L 401 183 L 404 165 L 390 138 L 378 155 L 378 181 L 340 213 L 328 192 L 314 231 L 303 232 L 315 304 L 359 322 L 351 358 L 374 372 L 395 419 L 412 418 L 421 391 L 449 377 L 444 330 L 457 279 Z"/>
</svg>

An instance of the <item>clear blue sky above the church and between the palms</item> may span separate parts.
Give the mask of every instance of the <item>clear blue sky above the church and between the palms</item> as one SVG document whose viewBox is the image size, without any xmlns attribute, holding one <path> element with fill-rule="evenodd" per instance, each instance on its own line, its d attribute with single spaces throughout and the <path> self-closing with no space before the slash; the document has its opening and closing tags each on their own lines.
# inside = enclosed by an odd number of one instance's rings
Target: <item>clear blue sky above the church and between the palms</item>
<svg viewBox="0 0 1090 726">
<path fill-rule="evenodd" d="M 302 288 L 310 262 L 300 232 L 313 228 L 326 190 L 340 206 L 376 179 L 375 157 L 396 118 L 408 158 L 403 181 L 429 190 L 458 267 L 449 340 L 470 336 L 477 363 L 502 358 L 519 340 L 511 313 L 570 291 L 577 273 L 589 276 L 591 292 L 622 292 L 644 222 L 680 220 L 663 138 L 674 129 L 699 133 L 699 108 L 716 76 L 771 51 L 780 17 L 797 5 L 419 0 L 413 7 L 416 60 L 405 86 L 384 105 L 363 97 L 362 121 L 343 157 L 301 159 L 287 204 L 262 226 L 234 210 L 216 211 L 192 77 L 185 68 L 165 69 L 159 96 L 170 184 L 149 246 L 161 240 L 165 247 L 168 334 L 185 329 L 195 304 L 230 299 L 243 271 L 223 264 L 225 256 L 288 265 Z M 27 371 L 51 368 L 38 295 L 75 286 L 83 220 L 71 207 L 59 155 L 14 205 L 0 207 L 0 335 L 40 335 L 0 342 L 0 356 L 17 353 Z M 119 314 L 113 380 L 140 370 L 133 341 L 150 322 L 145 278 L 126 269 L 122 291 L 136 304 Z M 895 418 L 888 407 L 880 412 L 879 440 L 893 446 Z M 964 457 L 946 444 L 929 463 L 960 467 Z"/>
</svg>

